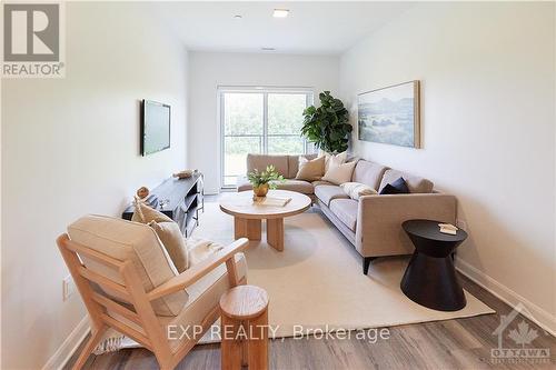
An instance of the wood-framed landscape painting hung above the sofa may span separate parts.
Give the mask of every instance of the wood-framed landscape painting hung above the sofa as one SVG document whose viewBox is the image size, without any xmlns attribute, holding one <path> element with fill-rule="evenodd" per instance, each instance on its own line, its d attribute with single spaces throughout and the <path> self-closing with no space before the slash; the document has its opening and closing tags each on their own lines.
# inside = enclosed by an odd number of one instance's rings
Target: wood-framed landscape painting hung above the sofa
<svg viewBox="0 0 556 370">
<path fill-rule="evenodd" d="M 419 148 L 419 81 L 360 93 L 357 103 L 359 140 Z"/>
</svg>

